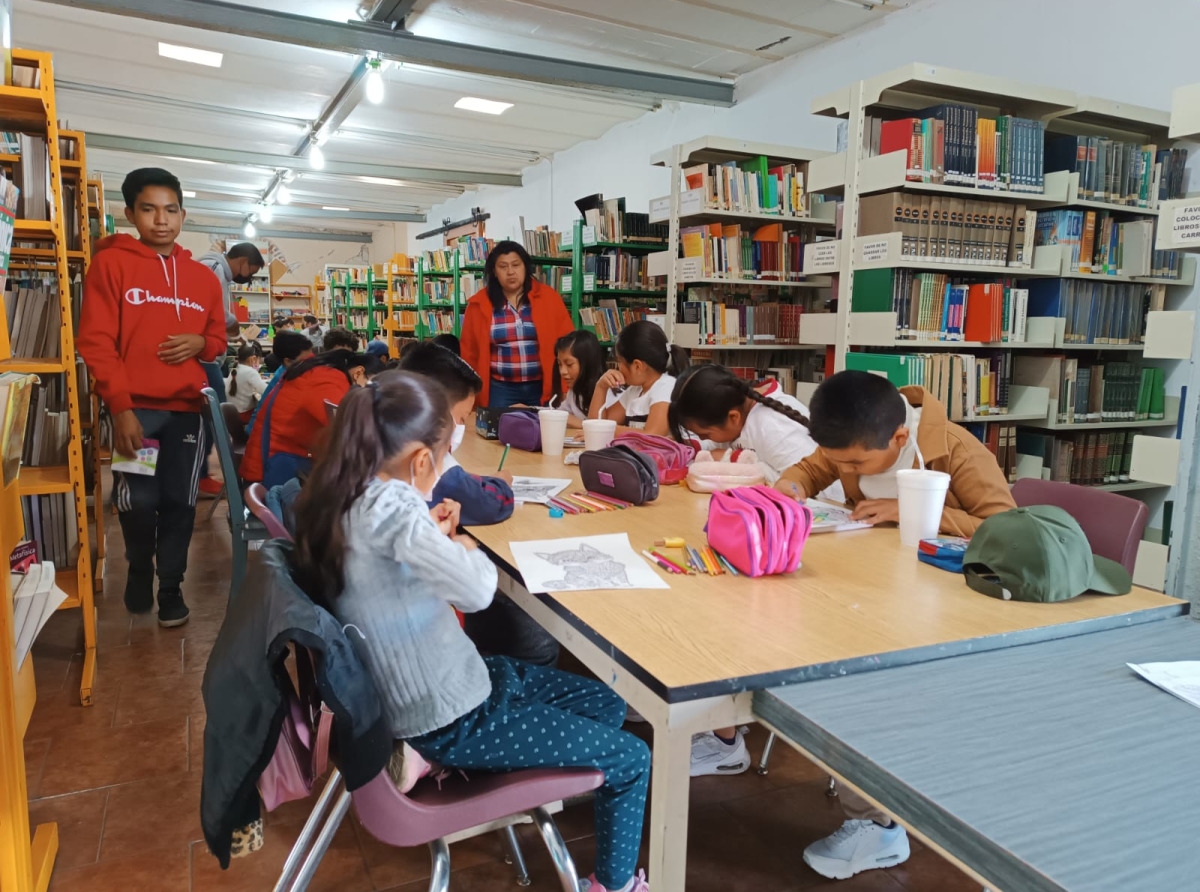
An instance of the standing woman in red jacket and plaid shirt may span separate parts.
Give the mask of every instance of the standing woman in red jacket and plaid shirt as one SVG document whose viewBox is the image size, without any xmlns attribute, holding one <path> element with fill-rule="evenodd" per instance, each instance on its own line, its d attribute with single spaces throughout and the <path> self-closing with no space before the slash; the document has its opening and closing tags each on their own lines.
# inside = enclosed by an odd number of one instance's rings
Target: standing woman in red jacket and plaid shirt
<svg viewBox="0 0 1200 892">
<path fill-rule="evenodd" d="M 478 403 L 545 403 L 554 343 L 575 328 L 563 295 L 533 277 L 533 259 L 515 241 L 497 243 L 485 275 L 487 286 L 467 301 L 462 321 L 462 358 L 484 379 Z"/>
</svg>

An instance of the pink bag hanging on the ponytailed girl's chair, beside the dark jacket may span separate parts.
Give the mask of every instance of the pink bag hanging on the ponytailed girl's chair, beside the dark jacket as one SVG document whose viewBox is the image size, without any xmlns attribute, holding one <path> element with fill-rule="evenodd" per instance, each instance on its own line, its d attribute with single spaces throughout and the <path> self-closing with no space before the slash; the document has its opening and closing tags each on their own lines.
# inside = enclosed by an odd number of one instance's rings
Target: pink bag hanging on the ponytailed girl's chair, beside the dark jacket
<svg viewBox="0 0 1200 892">
<path fill-rule="evenodd" d="M 312 659 L 302 647 L 298 647 L 295 653 L 296 663 Z M 329 766 L 334 713 L 320 702 L 316 689 L 308 689 L 305 680 L 313 677 L 312 669 L 301 665 L 298 676 L 301 692 L 288 692 L 288 710 L 283 714 L 275 753 L 258 777 L 258 795 L 268 812 L 274 812 L 284 802 L 308 798 L 313 783 Z"/>
</svg>

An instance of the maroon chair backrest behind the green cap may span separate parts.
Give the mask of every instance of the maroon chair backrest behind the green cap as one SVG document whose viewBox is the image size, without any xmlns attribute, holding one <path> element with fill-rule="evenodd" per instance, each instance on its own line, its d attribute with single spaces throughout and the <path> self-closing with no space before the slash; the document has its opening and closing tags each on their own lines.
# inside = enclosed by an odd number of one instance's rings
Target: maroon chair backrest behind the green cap
<svg viewBox="0 0 1200 892">
<path fill-rule="evenodd" d="M 1138 543 L 1146 529 L 1150 509 L 1135 498 L 1093 486 L 1025 478 L 1013 485 L 1013 498 L 1026 505 L 1057 505 L 1075 519 L 1092 552 L 1133 574 Z"/>
</svg>

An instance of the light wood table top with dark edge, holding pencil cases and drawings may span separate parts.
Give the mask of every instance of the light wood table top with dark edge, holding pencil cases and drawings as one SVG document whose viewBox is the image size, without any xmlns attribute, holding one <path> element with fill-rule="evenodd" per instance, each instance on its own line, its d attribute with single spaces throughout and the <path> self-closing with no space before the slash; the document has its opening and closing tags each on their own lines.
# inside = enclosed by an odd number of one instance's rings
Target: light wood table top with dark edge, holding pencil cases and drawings
<svg viewBox="0 0 1200 892">
<path fill-rule="evenodd" d="M 468 431 L 455 457 L 494 473 L 503 447 Z M 505 471 L 578 481 L 562 457 L 512 449 Z M 568 490 L 572 492 L 575 490 Z M 664 487 L 640 508 L 551 519 L 518 507 L 470 534 L 520 579 L 509 543 L 628 532 L 635 551 L 664 537 L 706 543 L 708 497 Z M 667 551 L 666 553 L 671 553 Z M 659 570 L 661 573 L 661 570 Z M 581 634 L 668 702 L 758 690 L 997 647 L 1150 622 L 1187 611 L 1145 588 L 1057 604 L 1002 601 L 972 592 L 958 574 L 917 561 L 895 528 L 812 535 L 803 567 L 787 576 L 679 576 L 648 591 L 538 595 Z"/>
</svg>

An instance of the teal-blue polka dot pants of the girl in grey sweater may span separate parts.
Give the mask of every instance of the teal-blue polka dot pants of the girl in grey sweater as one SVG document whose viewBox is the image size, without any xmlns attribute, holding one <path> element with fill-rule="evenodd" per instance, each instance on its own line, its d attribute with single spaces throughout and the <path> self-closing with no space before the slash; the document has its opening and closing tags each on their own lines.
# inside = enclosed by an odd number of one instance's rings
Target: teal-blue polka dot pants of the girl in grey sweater
<svg viewBox="0 0 1200 892">
<path fill-rule="evenodd" d="M 485 659 L 492 694 L 452 725 L 408 743 L 466 771 L 599 768 L 596 880 L 622 888 L 637 869 L 650 750 L 620 730 L 625 701 L 600 682 L 508 657 Z"/>
</svg>

